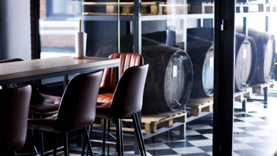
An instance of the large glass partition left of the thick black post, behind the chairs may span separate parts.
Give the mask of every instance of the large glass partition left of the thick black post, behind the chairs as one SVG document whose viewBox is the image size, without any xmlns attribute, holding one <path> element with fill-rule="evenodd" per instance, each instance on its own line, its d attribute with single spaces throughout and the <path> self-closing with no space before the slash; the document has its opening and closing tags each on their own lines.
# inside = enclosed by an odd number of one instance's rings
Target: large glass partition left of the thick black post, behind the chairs
<svg viewBox="0 0 277 156">
<path fill-rule="evenodd" d="M 140 113 L 147 155 L 212 155 L 214 1 L 40 0 L 40 57 L 75 55 L 80 19 L 87 56 L 139 53 L 149 64 Z M 103 124 L 95 121 L 92 140 L 102 140 Z M 133 124 L 123 126 L 124 152 L 138 155 Z M 83 140 L 72 133 L 70 150 Z M 99 141 L 92 146 L 101 152 Z"/>
</svg>

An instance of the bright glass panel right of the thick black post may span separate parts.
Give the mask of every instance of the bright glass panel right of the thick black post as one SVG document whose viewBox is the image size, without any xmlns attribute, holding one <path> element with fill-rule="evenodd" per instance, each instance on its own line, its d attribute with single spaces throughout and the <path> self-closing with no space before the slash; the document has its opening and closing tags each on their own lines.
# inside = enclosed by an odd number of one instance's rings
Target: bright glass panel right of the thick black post
<svg viewBox="0 0 277 156">
<path fill-rule="evenodd" d="M 237 0 L 234 155 L 277 151 L 276 7 L 276 1 Z"/>
</svg>

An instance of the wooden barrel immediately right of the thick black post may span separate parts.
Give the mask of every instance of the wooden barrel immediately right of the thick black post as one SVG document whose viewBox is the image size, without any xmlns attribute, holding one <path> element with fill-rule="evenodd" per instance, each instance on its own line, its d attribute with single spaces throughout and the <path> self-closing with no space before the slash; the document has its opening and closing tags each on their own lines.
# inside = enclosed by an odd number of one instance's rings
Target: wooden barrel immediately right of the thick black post
<svg viewBox="0 0 277 156">
<path fill-rule="evenodd" d="M 253 38 L 236 33 L 235 52 L 234 88 L 235 91 L 244 91 L 249 87 L 256 67 L 256 44 Z"/>
</svg>

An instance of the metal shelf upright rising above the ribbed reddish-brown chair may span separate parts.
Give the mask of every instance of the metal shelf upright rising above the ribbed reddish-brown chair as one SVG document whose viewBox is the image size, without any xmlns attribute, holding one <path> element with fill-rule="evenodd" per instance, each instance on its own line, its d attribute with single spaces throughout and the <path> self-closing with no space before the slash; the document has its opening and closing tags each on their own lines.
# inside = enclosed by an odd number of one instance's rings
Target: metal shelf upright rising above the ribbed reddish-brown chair
<svg viewBox="0 0 277 156">
<path fill-rule="evenodd" d="M 134 53 L 141 54 L 141 0 L 134 1 Z"/>
</svg>

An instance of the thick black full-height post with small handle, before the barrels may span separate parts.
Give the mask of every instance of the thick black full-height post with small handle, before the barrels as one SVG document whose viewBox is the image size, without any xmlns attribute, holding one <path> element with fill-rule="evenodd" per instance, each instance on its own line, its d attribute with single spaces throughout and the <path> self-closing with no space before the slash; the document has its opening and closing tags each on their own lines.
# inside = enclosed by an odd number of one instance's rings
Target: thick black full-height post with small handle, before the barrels
<svg viewBox="0 0 277 156">
<path fill-rule="evenodd" d="M 232 156 L 235 1 L 214 1 L 214 125 L 212 155 Z"/>
</svg>

